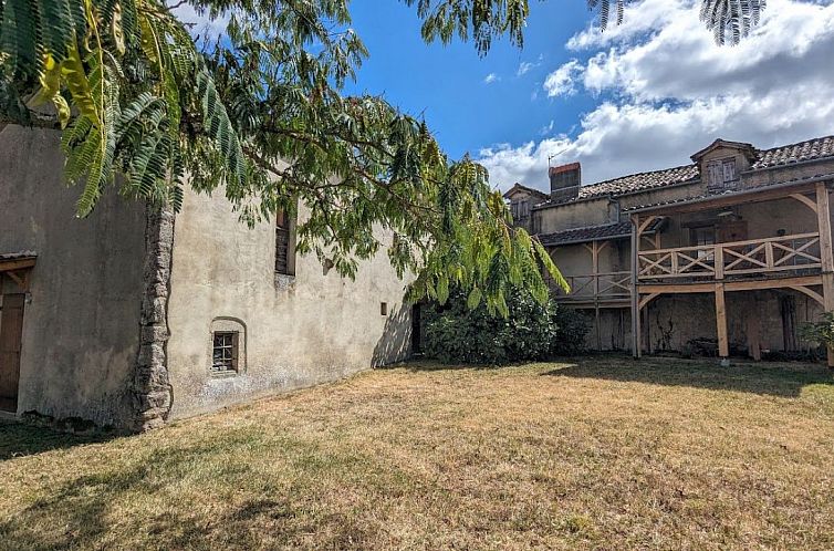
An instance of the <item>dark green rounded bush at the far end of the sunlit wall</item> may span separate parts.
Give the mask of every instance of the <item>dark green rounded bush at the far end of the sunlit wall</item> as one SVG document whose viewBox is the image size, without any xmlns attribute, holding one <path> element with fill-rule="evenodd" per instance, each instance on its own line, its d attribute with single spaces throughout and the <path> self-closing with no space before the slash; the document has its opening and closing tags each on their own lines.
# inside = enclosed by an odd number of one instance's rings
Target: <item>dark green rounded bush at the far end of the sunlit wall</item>
<svg viewBox="0 0 834 551">
<path fill-rule="evenodd" d="M 577 313 L 560 310 L 552 301 L 543 305 L 523 292 L 507 302 L 507 319 L 490 315 L 483 304 L 469 310 L 466 295 L 459 292 L 445 305 L 425 306 L 426 355 L 444 363 L 501 365 L 584 347 L 587 323 Z"/>
</svg>

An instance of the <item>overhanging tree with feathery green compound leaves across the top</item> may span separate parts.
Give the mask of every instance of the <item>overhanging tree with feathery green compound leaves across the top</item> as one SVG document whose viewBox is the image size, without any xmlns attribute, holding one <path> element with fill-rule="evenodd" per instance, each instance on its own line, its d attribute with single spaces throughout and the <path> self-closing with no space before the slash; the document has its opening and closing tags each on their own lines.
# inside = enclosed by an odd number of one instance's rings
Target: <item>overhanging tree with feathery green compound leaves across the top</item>
<svg viewBox="0 0 834 551">
<path fill-rule="evenodd" d="M 187 1 L 228 18 L 225 35 L 198 41 L 161 0 L 0 0 L 0 124 L 62 131 L 80 216 L 117 181 L 175 209 L 185 185 L 222 188 L 249 223 L 305 204 L 299 250 L 342 276 L 380 249 L 376 227 L 389 230 L 392 264 L 418 274 L 413 298 L 442 302 L 454 284 L 505 314 L 513 288 L 546 300 L 542 269 L 566 287 L 483 167 L 448 159 L 383 98 L 343 97 L 367 53 L 348 0 Z M 497 35 L 523 41 L 528 0 L 403 1 L 427 41 L 471 38 L 482 53 Z M 605 23 L 612 2 L 590 3 Z M 715 24 L 763 4 L 711 3 L 726 4 Z"/>
</svg>

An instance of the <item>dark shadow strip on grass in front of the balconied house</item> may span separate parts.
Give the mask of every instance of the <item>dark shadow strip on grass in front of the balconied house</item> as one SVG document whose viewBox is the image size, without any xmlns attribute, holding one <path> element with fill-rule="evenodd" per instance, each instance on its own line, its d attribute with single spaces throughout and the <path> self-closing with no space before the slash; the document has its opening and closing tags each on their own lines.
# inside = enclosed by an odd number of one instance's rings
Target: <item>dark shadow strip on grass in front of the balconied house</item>
<svg viewBox="0 0 834 551">
<path fill-rule="evenodd" d="M 814 364 L 741 363 L 721 367 L 710 361 L 588 358 L 574 360 L 574 363 L 542 375 L 690 386 L 785 397 L 799 396 L 802 388 L 807 385 L 823 385 L 834 391 L 832 373 L 827 367 Z"/>
</svg>

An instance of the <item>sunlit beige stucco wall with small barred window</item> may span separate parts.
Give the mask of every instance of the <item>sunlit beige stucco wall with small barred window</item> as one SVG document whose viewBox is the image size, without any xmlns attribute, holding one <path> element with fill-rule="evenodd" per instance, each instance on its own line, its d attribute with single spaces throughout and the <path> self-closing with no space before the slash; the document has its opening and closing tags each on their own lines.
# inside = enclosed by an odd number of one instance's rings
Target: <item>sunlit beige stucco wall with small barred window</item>
<svg viewBox="0 0 834 551">
<path fill-rule="evenodd" d="M 250 230 L 219 195 L 186 194 L 168 304 L 174 417 L 334 381 L 408 353 L 405 282 L 385 253 L 363 263 L 356 281 L 335 270 L 325 276 L 314 257 L 299 256 L 286 285 L 275 283 L 274 249 L 272 223 Z M 212 321 L 244 329 L 244 365 L 234 376 L 210 374 Z"/>
</svg>

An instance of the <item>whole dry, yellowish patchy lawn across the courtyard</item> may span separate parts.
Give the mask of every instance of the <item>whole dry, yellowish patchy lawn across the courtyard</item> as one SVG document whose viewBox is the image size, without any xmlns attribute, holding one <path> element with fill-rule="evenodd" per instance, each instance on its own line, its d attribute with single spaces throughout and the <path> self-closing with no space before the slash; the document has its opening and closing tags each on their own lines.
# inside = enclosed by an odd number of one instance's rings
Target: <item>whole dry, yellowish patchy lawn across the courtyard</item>
<svg viewBox="0 0 834 551">
<path fill-rule="evenodd" d="M 108 441 L 0 425 L 0 548 L 834 548 L 822 366 L 375 371 Z"/>
</svg>

